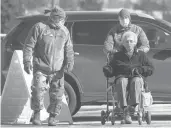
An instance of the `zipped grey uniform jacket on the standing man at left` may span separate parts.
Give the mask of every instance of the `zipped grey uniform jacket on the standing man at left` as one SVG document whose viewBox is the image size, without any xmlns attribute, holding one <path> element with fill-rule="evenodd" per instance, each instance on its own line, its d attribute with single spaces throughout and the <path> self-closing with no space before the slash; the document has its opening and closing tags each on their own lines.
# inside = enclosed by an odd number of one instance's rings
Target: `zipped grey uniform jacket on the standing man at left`
<svg viewBox="0 0 171 128">
<path fill-rule="evenodd" d="M 23 63 L 33 57 L 34 70 L 51 74 L 65 64 L 74 64 L 73 44 L 65 26 L 52 28 L 48 22 L 39 22 L 30 30 L 23 48 Z M 65 64 L 64 64 L 65 62 Z"/>
</svg>

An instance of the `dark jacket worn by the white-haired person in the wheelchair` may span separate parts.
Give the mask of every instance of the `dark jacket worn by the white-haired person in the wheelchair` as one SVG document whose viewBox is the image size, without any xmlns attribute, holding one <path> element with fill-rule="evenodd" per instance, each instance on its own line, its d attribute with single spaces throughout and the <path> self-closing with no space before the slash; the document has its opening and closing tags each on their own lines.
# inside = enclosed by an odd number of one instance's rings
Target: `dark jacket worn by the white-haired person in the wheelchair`
<svg viewBox="0 0 171 128">
<path fill-rule="evenodd" d="M 136 50 L 135 50 L 136 51 Z M 146 53 L 134 52 L 130 58 L 126 50 L 114 54 L 109 65 L 112 67 L 112 76 L 133 77 L 132 70 L 137 68 L 143 77 L 151 76 L 154 71 L 152 62 L 148 59 Z"/>
</svg>

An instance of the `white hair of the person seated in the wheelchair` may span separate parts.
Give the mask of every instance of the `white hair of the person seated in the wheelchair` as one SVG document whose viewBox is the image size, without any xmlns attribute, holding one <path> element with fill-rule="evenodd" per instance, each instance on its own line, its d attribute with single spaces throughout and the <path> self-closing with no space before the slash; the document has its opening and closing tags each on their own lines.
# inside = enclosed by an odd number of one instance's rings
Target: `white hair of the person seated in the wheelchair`
<svg viewBox="0 0 171 128">
<path fill-rule="evenodd" d="M 128 37 L 133 37 L 134 42 L 137 43 L 137 41 L 138 41 L 137 35 L 132 31 L 127 31 L 122 35 L 122 44 L 125 43 L 125 41 Z"/>
</svg>

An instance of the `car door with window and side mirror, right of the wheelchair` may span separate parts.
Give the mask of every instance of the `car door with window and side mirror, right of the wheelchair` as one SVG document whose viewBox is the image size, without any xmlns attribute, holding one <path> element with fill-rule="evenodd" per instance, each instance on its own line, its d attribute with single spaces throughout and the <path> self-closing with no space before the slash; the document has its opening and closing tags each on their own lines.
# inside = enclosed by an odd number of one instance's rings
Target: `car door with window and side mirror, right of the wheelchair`
<svg viewBox="0 0 171 128">
<path fill-rule="evenodd" d="M 171 100 L 171 35 L 160 26 L 138 23 L 147 34 L 150 43 L 148 56 L 152 59 L 155 71 L 148 78 L 148 85 L 154 100 Z M 169 27 L 169 26 L 168 26 Z"/>
</svg>

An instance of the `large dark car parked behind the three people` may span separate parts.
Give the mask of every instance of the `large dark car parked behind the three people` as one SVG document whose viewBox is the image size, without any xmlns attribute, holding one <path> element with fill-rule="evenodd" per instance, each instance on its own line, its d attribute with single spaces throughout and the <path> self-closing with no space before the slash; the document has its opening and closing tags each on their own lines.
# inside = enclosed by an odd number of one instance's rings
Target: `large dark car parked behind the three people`
<svg viewBox="0 0 171 128">
<path fill-rule="evenodd" d="M 106 101 L 106 79 L 102 67 L 106 63 L 103 43 L 110 28 L 118 22 L 118 12 L 67 12 L 66 26 L 74 44 L 75 66 L 72 73 L 65 73 L 65 85 L 69 108 L 74 115 L 86 104 Z M 143 28 L 150 41 L 148 56 L 155 65 L 154 75 L 148 85 L 156 103 L 171 102 L 171 23 L 155 19 L 143 13 L 131 13 L 132 23 Z M 1 86 L 10 65 L 14 50 L 21 50 L 30 28 L 37 22 L 47 20 L 48 15 L 19 17 L 20 24 L 12 29 L 2 43 Z"/>
</svg>

